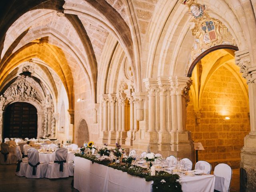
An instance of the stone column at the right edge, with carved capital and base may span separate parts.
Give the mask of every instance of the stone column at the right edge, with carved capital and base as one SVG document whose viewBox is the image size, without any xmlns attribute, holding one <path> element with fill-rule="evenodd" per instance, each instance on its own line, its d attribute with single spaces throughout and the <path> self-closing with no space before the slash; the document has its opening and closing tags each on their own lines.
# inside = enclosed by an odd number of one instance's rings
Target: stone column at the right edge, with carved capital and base
<svg viewBox="0 0 256 192">
<path fill-rule="evenodd" d="M 247 183 L 240 183 L 243 191 L 256 191 L 256 67 L 251 67 L 248 50 L 235 52 L 235 62 L 240 67 L 242 76 L 248 84 L 250 107 L 250 133 L 244 138 L 244 147 L 241 150 L 240 177 L 247 175 Z"/>
</svg>

